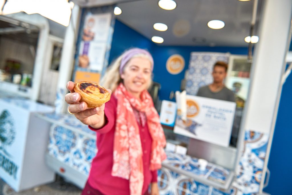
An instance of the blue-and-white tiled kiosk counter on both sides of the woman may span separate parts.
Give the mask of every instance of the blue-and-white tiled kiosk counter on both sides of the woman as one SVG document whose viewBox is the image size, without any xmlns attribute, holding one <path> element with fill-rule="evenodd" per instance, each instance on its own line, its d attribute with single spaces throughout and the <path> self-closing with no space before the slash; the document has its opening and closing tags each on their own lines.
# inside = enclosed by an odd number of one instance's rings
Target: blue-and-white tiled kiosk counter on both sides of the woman
<svg viewBox="0 0 292 195">
<path fill-rule="evenodd" d="M 97 152 L 96 135 L 88 127 L 71 115 L 42 114 L 54 125 L 50 131 L 48 153 L 58 161 L 88 175 L 93 157 Z M 259 191 L 268 135 L 246 131 L 244 150 L 236 178 L 229 191 L 220 191 L 212 186 L 195 181 L 191 177 L 178 174 L 168 168 L 158 171 L 161 195 L 251 195 Z M 196 158 L 167 152 L 164 164 L 180 168 L 208 180 L 224 183 L 230 170 L 208 163 L 205 171 L 200 171 Z M 69 178 L 70 179 L 70 178 Z"/>
</svg>

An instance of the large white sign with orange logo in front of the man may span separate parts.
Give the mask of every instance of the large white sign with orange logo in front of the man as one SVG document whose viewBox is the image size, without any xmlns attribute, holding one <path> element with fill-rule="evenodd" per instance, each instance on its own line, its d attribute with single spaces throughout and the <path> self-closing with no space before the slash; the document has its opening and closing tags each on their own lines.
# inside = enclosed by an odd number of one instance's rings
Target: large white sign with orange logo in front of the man
<svg viewBox="0 0 292 195">
<path fill-rule="evenodd" d="M 228 147 L 235 112 L 235 102 L 186 96 L 187 120 L 177 116 L 174 132 Z"/>
</svg>

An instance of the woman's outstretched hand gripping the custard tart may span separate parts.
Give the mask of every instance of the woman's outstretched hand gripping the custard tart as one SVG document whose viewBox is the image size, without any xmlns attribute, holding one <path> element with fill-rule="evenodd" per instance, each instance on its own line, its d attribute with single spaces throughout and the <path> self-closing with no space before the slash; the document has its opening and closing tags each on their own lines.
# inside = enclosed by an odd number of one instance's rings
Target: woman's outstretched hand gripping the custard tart
<svg viewBox="0 0 292 195">
<path fill-rule="evenodd" d="M 105 124 L 105 104 L 100 107 L 88 109 L 86 102 L 79 102 L 81 96 L 79 93 L 73 91 L 74 83 L 69 81 L 67 83 L 67 89 L 70 93 L 65 95 L 65 101 L 70 104 L 69 111 L 75 114 L 76 118 L 79 119 L 82 123 L 90 125 L 93 128 L 101 128 Z M 107 90 L 112 94 L 111 90 Z"/>
</svg>

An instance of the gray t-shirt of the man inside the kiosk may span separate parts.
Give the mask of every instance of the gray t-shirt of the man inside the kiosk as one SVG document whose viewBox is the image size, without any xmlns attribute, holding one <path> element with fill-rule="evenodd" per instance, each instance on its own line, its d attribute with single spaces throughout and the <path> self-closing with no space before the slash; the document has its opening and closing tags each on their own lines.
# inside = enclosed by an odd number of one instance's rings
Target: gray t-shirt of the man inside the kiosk
<svg viewBox="0 0 292 195">
<path fill-rule="evenodd" d="M 198 90 L 197 96 L 235 102 L 234 93 L 225 86 L 218 92 L 211 91 L 209 86 L 201 87 Z"/>
</svg>

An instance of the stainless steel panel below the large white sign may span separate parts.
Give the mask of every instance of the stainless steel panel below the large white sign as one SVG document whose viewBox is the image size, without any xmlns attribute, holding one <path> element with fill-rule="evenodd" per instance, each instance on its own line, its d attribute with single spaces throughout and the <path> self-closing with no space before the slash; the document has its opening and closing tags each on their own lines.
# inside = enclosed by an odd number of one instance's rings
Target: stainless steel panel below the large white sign
<svg viewBox="0 0 292 195">
<path fill-rule="evenodd" d="M 234 147 L 223 147 L 201 140 L 190 139 L 187 154 L 234 170 L 237 158 L 237 149 Z"/>
</svg>

